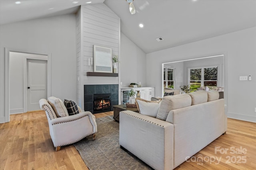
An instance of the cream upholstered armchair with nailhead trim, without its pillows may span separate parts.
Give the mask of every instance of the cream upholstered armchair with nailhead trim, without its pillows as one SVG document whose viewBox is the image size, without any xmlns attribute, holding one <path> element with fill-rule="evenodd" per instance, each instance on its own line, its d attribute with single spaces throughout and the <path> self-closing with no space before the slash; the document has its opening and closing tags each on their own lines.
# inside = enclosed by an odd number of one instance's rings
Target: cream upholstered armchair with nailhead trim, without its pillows
<svg viewBox="0 0 256 170">
<path fill-rule="evenodd" d="M 79 113 L 65 117 L 57 117 L 52 106 L 46 99 L 39 100 L 42 110 L 45 110 L 48 119 L 50 136 L 56 151 L 61 146 L 80 141 L 88 135 L 93 136 L 97 132 L 95 116 L 90 111 L 82 111 L 78 106 Z"/>
</svg>

